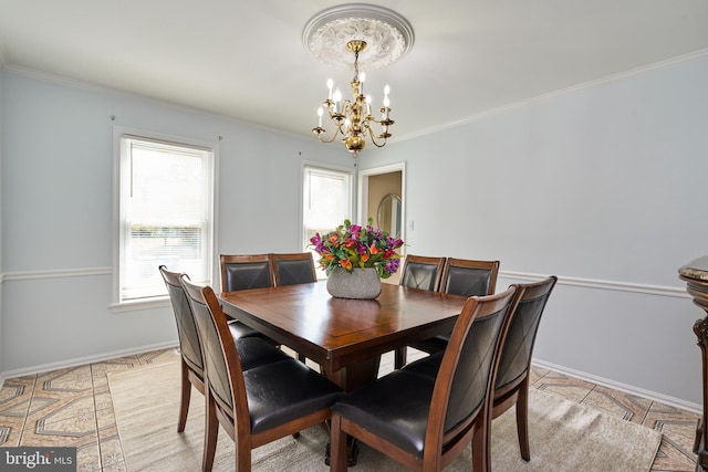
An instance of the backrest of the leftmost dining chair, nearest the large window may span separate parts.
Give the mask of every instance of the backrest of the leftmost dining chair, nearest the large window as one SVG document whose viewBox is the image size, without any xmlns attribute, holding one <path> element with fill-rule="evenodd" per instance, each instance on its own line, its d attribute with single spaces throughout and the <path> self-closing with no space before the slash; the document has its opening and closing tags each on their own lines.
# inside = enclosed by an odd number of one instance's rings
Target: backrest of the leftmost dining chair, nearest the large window
<svg viewBox="0 0 708 472">
<path fill-rule="evenodd" d="M 179 337 L 179 350 L 189 367 L 200 376 L 204 374 L 204 360 L 201 358 L 201 345 L 197 333 L 197 325 L 191 313 L 191 307 L 181 286 L 180 277 L 189 280 L 187 274 L 170 272 L 165 265 L 159 266 L 167 293 L 173 304 L 175 319 L 177 322 L 177 336 Z"/>
</svg>

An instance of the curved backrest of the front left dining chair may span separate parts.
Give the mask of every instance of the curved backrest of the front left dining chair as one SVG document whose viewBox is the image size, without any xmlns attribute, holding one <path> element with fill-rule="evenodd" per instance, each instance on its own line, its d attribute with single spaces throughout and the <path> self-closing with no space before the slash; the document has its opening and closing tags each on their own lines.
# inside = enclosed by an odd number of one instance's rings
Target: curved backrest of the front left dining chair
<svg viewBox="0 0 708 472">
<path fill-rule="evenodd" d="M 199 329 L 209 395 L 214 397 L 222 411 L 231 412 L 231 415 L 235 408 L 238 408 L 239 400 L 237 399 L 242 399 L 241 402 L 246 407 L 246 418 L 249 418 L 241 361 L 236 350 L 233 337 L 230 335 L 226 315 L 221 311 L 214 291 L 210 286 L 192 284 L 184 276 L 180 282 Z M 241 397 L 235 395 L 237 386 L 240 386 Z M 250 424 L 248 428 L 250 431 Z"/>
</svg>

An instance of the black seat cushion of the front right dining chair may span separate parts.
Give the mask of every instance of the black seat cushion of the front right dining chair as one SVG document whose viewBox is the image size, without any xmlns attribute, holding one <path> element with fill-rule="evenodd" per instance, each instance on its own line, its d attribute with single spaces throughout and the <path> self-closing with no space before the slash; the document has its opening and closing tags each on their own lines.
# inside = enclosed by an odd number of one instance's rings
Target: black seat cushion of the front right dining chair
<svg viewBox="0 0 708 472">
<path fill-rule="evenodd" d="M 332 411 L 421 458 L 435 378 L 395 370 L 343 397 Z"/>
</svg>

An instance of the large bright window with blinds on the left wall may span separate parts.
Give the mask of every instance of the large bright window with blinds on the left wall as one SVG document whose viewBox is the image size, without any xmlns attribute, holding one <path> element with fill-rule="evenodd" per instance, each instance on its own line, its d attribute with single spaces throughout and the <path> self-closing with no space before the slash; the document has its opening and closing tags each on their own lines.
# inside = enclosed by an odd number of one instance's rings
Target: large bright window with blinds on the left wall
<svg viewBox="0 0 708 472">
<path fill-rule="evenodd" d="M 117 301 L 167 293 L 164 264 L 211 281 L 214 148 L 119 136 Z"/>
</svg>

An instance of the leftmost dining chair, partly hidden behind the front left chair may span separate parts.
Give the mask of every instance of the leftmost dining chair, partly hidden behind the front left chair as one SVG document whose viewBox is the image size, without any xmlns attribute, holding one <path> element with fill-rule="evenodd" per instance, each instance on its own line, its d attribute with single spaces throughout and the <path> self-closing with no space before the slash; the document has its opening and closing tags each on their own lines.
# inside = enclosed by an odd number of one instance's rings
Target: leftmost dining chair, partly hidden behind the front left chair
<svg viewBox="0 0 708 472">
<path fill-rule="evenodd" d="M 177 322 L 177 335 L 179 338 L 179 353 L 181 357 L 181 395 L 177 431 L 181 432 L 187 423 L 191 386 L 202 395 L 205 394 L 202 346 L 194 313 L 191 312 L 191 305 L 189 304 L 189 300 L 181 284 L 183 279 L 189 280 L 188 275 L 178 272 L 170 272 L 165 265 L 159 266 L 159 272 L 163 275 L 165 285 L 167 286 L 169 300 L 175 313 L 175 319 Z M 242 329 L 242 327 L 244 327 L 244 325 L 239 322 L 231 321 L 228 323 L 229 334 L 232 339 L 246 339 L 249 337 L 243 336 L 244 329 Z M 243 361 L 247 368 L 278 359 L 291 358 L 285 353 L 278 349 L 273 353 L 270 350 L 270 347 L 272 346 L 262 339 L 259 339 L 258 337 L 253 337 L 253 339 L 254 340 L 239 340 L 239 343 L 243 345 L 241 350 L 244 356 L 248 356 Z M 269 348 L 261 348 L 261 345 L 267 345 Z"/>
</svg>

